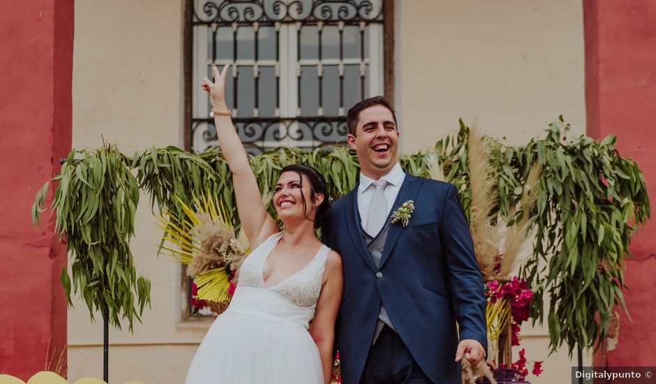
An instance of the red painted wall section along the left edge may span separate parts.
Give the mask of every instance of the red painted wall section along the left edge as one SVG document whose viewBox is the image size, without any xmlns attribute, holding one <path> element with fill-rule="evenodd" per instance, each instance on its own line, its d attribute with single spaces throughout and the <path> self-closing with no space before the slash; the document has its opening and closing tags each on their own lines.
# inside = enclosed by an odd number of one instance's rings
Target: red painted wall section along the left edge
<svg viewBox="0 0 656 384">
<path fill-rule="evenodd" d="M 0 38 L 0 374 L 27 381 L 66 370 L 66 247 L 30 207 L 70 151 L 73 0 L 4 2 Z"/>
</svg>

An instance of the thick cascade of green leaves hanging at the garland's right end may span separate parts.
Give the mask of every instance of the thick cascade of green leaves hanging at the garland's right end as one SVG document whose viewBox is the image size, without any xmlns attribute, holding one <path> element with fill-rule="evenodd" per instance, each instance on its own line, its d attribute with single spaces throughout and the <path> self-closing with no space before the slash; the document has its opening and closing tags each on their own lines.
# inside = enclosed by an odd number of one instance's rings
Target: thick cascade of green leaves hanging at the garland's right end
<svg viewBox="0 0 656 384">
<path fill-rule="evenodd" d="M 533 253 L 522 274 L 536 290 L 532 314 L 542 321 L 544 293 L 549 293 L 552 352 L 567 343 L 599 348 L 614 305 L 625 307 L 624 258 L 636 226 L 650 216 L 645 180 L 638 165 L 620 156 L 616 138 L 602 142 L 567 138 L 569 124 L 551 124 L 544 140 L 523 147 L 499 147 L 498 166 L 505 174 L 500 201 L 518 195 L 516 179 L 527 165 L 542 165 L 537 194 Z M 506 209 L 505 207 L 503 207 Z M 518 212 L 521 214 L 521 212 Z"/>
</svg>

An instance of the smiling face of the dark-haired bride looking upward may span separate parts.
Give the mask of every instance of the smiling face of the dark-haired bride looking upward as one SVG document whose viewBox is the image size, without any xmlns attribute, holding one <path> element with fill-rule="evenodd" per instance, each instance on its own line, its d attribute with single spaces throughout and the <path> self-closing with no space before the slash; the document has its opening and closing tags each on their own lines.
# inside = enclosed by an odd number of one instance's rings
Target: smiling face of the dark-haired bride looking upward
<svg viewBox="0 0 656 384">
<path fill-rule="evenodd" d="M 305 175 L 299 175 L 297 172 L 283 172 L 278 178 L 274 191 L 273 202 L 276 213 L 283 222 L 314 219 L 315 207 L 313 204 L 318 203 L 312 201 L 310 182 Z M 318 196 L 315 196 L 315 200 Z"/>
</svg>

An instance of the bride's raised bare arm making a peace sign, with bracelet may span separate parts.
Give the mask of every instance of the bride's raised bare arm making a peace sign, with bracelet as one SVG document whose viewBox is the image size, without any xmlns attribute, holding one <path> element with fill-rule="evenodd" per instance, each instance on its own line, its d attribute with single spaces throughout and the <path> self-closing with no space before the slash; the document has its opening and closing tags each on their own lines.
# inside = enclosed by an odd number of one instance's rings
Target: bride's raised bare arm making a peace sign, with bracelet
<svg viewBox="0 0 656 384">
<path fill-rule="evenodd" d="M 234 184 L 234 195 L 237 198 L 241 226 L 246 232 L 251 248 L 254 249 L 279 229 L 262 204 L 258 182 L 255 180 L 251 165 L 248 164 L 246 149 L 234 130 L 230 110 L 225 103 L 225 77 L 228 75 L 229 67 L 230 64 L 226 64 L 223 71 L 219 73 L 218 68 L 213 66 L 214 82 L 204 77 L 202 88 L 209 93 L 209 101 L 212 111 L 214 111 L 218 144 L 221 146 L 221 152 L 232 172 L 232 183 Z M 221 112 L 225 112 L 225 114 Z"/>
</svg>

